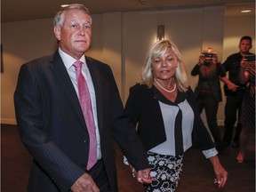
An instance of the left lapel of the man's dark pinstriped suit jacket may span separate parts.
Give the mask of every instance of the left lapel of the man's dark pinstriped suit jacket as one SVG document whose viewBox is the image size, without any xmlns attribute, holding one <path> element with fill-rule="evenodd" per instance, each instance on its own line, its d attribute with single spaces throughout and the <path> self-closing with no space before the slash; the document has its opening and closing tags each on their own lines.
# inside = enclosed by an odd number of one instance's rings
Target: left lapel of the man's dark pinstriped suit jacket
<svg viewBox="0 0 256 192">
<path fill-rule="evenodd" d="M 56 76 L 57 81 L 59 81 L 59 84 L 62 86 L 63 90 L 66 92 L 70 100 L 70 103 L 73 105 L 74 110 L 76 111 L 77 116 L 79 117 L 81 122 L 84 124 L 84 127 L 86 127 L 84 122 L 84 115 L 76 95 L 76 90 L 70 80 L 70 77 L 68 76 L 67 69 L 65 68 L 64 63 L 61 60 L 60 54 L 58 51 L 55 52 L 52 58 L 52 71 L 54 74 L 53 76 Z"/>
</svg>

